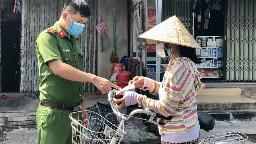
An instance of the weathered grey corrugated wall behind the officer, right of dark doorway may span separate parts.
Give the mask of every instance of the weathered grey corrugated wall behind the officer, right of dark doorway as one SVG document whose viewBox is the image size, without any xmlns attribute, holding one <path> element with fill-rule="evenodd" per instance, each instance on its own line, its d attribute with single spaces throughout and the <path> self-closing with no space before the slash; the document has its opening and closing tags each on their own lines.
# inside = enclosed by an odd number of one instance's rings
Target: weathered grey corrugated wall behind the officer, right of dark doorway
<svg viewBox="0 0 256 144">
<path fill-rule="evenodd" d="M 21 25 L 21 70 L 20 92 L 39 91 L 40 83 L 38 62 L 35 49 L 37 36 L 51 27 L 59 19 L 65 0 L 26 0 L 22 1 Z M 97 74 L 96 29 L 97 0 L 87 1 L 91 8 L 91 17 L 81 35 L 81 51 L 84 56 L 84 70 Z M 92 84 L 84 84 L 84 91 L 95 91 Z"/>
</svg>

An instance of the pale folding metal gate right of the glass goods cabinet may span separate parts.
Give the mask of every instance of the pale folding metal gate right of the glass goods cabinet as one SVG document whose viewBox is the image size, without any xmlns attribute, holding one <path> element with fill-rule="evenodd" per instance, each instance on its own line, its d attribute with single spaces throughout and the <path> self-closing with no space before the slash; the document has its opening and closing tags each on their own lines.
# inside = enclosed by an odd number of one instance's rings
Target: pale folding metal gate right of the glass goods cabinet
<svg viewBox="0 0 256 144">
<path fill-rule="evenodd" d="M 254 81 L 256 75 L 256 1 L 227 0 L 226 81 Z"/>
</svg>

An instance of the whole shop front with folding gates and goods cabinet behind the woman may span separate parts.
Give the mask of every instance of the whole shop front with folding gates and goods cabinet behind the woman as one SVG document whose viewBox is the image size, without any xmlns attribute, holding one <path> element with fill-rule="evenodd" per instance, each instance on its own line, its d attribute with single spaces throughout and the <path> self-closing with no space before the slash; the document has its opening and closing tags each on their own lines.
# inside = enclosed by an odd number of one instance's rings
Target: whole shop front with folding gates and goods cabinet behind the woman
<svg viewBox="0 0 256 144">
<path fill-rule="evenodd" d="M 196 51 L 202 61 L 198 65 L 202 81 L 254 82 L 256 1 L 156 0 L 156 5 L 161 21 L 176 15 L 202 47 Z M 157 58 L 153 49 L 153 42 L 148 42 L 147 60 L 155 61 L 147 61 L 147 77 L 161 81 L 169 60 Z"/>
</svg>

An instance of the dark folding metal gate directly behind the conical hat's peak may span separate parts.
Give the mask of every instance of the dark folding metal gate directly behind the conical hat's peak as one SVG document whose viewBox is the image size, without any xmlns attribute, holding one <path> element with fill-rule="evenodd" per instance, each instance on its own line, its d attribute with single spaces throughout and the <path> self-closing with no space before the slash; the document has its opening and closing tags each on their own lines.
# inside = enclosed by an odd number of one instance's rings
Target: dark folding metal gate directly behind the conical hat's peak
<svg viewBox="0 0 256 144">
<path fill-rule="evenodd" d="M 191 0 L 162 0 L 162 22 L 174 15 L 191 30 Z M 168 58 L 161 58 L 162 64 L 168 62 Z"/>
</svg>

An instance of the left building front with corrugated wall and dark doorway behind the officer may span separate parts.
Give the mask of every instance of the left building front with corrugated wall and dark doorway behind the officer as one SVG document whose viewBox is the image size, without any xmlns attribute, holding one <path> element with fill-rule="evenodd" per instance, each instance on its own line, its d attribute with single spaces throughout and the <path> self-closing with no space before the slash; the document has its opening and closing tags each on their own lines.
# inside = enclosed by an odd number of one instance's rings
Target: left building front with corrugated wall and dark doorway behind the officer
<svg viewBox="0 0 256 144">
<path fill-rule="evenodd" d="M 0 92 L 39 91 L 40 83 L 35 41 L 39 33 L 59 19 L 66 0 L 5 0 L 1 8 Z M 87 1 L 91 17 L 86 30 L 79 35 L 84 71 L 97 74 L 97 0 Z M 90 42 L 89 42 L 90 41 Z M 91 83 L 84 84 L 85 91 L 97 90 Z"/>
</svg>

